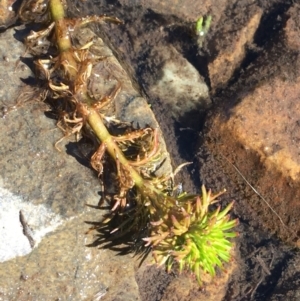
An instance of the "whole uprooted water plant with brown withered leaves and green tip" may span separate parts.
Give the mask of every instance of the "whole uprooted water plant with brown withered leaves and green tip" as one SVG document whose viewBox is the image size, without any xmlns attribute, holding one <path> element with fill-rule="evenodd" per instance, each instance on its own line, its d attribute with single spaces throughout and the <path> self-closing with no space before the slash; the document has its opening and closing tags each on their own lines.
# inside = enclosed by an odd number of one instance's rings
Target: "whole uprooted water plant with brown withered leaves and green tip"
<svg viewBox="0 0 300 301">
<path fill-rule="evenodd" d="M 212 195 L 204 186 L 201 196 L 174 193 L 170 187 L 177 171 L 159 177 L 153 174 L 163 156 L 157 129 L 134 130 L 128 126 L 125 134 L 118 136 L 108 130 L 103 109 L 119 93 L 121 85 L 98 101 L 88 92 L 88 81 L 97 60 L 90 53 L 93 42 L 78 48 L 71 39 L 72 32 L 90 22 L 120 24 L 121 21 L 107 16 L 67 19 L 61 0 L 24 3 L 19 12 L 21 19 L 26 20 L 30 15 L 28 11 L 32 10 L 39 13 L 39 19 L 49 21 L 46 29 L 32 31 L 26 44 L 36 55 L 43 97 L 63 104 L 58 126 L 65 136 L 79 134 L 84 129 L 94 137 L 99 146 L 91 157 L 91 166 L 99 175 L 105 168 L 105 154 L 114 162 L 117 191 L 109 200 L 109 212 L 96 228 L 109 229 L 112 236 L 117 237 L 138 233 L 137 243 L 143 242 L 144 247 L 152 251 L 155 261 L 166 265 L 167 270 L 176 262 L 180 271 L 192 271 L 199 282 L 202 272 L 215 275 L 216 267 L 229 261 L 233 244 L 230 239 L 236 236 L 232 228 L 237 220 L 230 220 L 228 215 L 233 203 L 223 210 L 214 205 L 213 210 L 211 205 L 217 203 L 221 193 Z M 43 49 L 39 57 L 37 46 L 40 44 L 49 49 L 55 46 L 55 54 L 46 57 Z"/>
</svg>

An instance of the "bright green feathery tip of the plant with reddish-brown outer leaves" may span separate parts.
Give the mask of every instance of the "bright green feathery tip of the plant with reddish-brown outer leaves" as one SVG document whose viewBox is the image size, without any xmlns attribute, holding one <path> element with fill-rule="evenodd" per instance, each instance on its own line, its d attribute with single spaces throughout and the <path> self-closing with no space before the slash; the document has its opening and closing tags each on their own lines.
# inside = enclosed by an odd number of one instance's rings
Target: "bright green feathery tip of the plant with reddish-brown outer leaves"
<svg viewBox="0 0 300 301">
<path fill-rule="evenodd" d="M 193 271 L 200 282 L 201 271 L 214 276 L 215 267 L 229 261 L 232 243 L 228 238 L 236 233 L 228 230 L 237 224 L 227 214 L 233 202 L 223 210 L 220 206 L 214 211 L 210 208 L 221 193 L 212 195 L 204 186 L 201 197 L 183 193 L 176 198 L 176 206 L 151 223 L 152 235 L 144 240 L 153 246 L 153 256 L 159 265 L 166 263 L 170 270 L 175 261 L 180 271 Z"/>
</svg>

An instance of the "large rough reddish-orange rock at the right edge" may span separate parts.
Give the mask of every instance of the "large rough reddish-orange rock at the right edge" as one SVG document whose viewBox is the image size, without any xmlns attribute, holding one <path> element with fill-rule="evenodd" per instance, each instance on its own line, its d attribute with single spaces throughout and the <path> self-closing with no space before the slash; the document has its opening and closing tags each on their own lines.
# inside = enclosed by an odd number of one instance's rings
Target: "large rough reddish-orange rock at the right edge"
<svg viewBox="0 0 300 301">
<path fill-rule="evenodd" d="M 286 82 L 276 77 L 247 95 L 241 93 L 238 105 L 214 118 L 209 133 L 214 141 L 209 147 L 234 164 L 264 197 L 253 204 L 256 218 L 296 245 L 300 234 L 299 84 L 300 78 Z"/>
</svg>

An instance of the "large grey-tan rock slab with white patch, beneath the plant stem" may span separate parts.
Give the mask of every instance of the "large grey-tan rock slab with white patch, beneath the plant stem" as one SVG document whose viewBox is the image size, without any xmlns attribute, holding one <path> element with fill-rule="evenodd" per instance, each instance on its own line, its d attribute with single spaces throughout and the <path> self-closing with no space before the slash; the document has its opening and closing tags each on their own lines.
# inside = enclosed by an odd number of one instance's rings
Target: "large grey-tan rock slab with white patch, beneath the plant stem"
<svg viewBox="0 0 300 301">
<path fill-rule="evenodd" d="M 84 33 L 87 37 L 92 34 L 87 28 Z M 7 30 L 3 38 L 14 41 L 13 30 Z M 96 38 L 94 42 L 97 45 Z M 101 40 L 99 43 L 104 47 Z M 116 251 L 110 249 L 87 247 L 95 241 L 96 233 L 86 234 L 90 227 L 86 222 L 98 222 L 104 213 L 86 206 L 97 206 L 99 202 L 99 179 L 87 168 L 80 146 L 65 140 L 60 145 L 61 152 L 54 148 L 62 133 L 55 121 L 46 118 L 44 111 L 49 109 L 34 101 L 32 90 L 24 93 L 19 84 L 20 75 L 27 77 L 29 70 L 26 69 L 27 76 L 19 69 L 12 71 L 24 46 L 15 41 L 6 45 L 11 60 L 1 69 L 6 81 L 1 88 L 3 98 L 10 100 L 7 108 L 18 94 L 21 97 L 16 110 L 0 120 L 5 129 L 1 131 L 0 146 L 0 298 L 140 300 L 131 255 L 116 256 Z M 116 98 L 116 117 L 140 126 L 158 127 L 147 102 L 133 89 L 116 59 L 110 57 L 104 67 L 112 68 L 124 85 Z M 18 68 L 23 70 L 21 65 Z M 109 82 L 105 77 L 108 74 L 102 75 L 103 81 Z M 97 85 L 95 79 L 92 81 Z M 93 93 L 96 92 L 94 86 Z M 162 136 L 160 139 L 163 147 Z M 164 166 L 171 169 L 168 157 Z"/>
</svg>

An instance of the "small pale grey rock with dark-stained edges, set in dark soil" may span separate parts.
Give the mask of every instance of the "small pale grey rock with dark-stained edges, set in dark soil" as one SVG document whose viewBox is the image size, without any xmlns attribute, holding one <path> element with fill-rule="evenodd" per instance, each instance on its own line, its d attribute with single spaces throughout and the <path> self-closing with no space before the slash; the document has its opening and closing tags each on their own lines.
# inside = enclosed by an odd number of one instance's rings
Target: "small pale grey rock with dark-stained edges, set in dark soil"
<svg viewBox="0 0 300 301">
<path fill-rule="evenodd" d="M 149 60 L 155 65 L 154 83 L 149 93 L 161 99 L 176 120 L 210 107 L 208 87 L 203 77 L 174 48 L 156 47 Z"/>
</svg>

